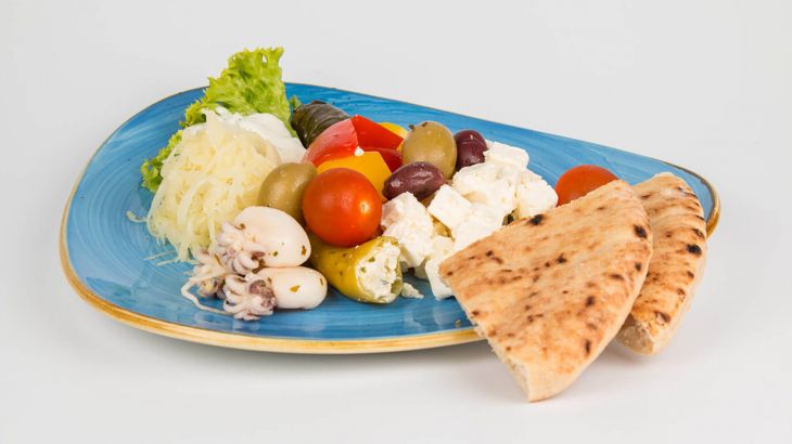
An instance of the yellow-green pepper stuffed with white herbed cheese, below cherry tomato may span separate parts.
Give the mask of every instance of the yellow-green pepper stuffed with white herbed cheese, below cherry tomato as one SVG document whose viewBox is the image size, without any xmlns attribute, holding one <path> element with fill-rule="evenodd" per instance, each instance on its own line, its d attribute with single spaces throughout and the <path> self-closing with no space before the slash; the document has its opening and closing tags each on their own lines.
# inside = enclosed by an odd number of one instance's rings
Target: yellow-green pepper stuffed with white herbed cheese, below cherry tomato
<svg viewBox="0 0 792 444">
<path fill-rule="evenodd" d="M 316 235 L 310 234 L 310 263 L 328 279 L 328 283 L 341 291 L 344 296 L 358 302 L 389 303 L 393 302 L 401 291 L 401 266 L 398 261 L 398 252 L 395 254 L 395 273 L 393 282 L 386 293 L 376 295 L 372 288 L 368 288 L 361 277 L 368 273 L 379 273 L 372 270 L 376 263 L 378 256 L 382 254 L 389 246 L 396 247 L 398 241 L 389 236 L 380 236 L 357 247 L 343 248 L 325 244 Z M 367 269 L 367 266 L 369 269 Z M 385 276 L 382 273 L 379 278 Z"/>
</svg>

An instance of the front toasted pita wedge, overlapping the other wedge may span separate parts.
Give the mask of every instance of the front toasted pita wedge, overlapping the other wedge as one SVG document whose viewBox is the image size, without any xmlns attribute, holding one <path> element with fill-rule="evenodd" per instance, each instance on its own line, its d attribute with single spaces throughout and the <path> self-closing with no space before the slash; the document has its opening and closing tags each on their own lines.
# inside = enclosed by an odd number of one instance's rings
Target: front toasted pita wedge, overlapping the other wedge
<svg viewBox="0 0 792 444">
<path fill-rule="evenodd" d="M 501 228 L 440 264 L 528 401 L 566 389 L 602 352 L 643 284 L 652 232 L 626 182 Z"/>
</svg>

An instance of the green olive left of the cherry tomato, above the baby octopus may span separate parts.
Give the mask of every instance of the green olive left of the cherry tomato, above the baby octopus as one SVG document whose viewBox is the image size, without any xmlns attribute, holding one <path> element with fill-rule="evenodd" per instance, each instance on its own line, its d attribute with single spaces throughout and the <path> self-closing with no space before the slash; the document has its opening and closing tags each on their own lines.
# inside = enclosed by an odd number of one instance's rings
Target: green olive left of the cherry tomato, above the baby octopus
<svg viewBox="0 0 792 444">
<path fill-rule="evenodd" d="M 258 205 L 277 208 L 303 223 L 303 193 L 315 177 L 314 164 L 280 165 L 261 183 Z"/>
</svg>

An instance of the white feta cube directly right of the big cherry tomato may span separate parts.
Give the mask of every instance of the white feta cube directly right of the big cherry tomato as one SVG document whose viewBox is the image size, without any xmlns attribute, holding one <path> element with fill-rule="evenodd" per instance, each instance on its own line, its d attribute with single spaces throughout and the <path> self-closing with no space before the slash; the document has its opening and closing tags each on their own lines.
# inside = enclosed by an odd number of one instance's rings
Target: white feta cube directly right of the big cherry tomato
<svg viewBox="0 0 792 444">
<path fill-rule="evenodd" d="M 406 267 L 419 266 L 432 252 L 432 217 L 411 193 L 403 193 L 382 206 L 383 235 L 395 237 Z"/>
</svg>

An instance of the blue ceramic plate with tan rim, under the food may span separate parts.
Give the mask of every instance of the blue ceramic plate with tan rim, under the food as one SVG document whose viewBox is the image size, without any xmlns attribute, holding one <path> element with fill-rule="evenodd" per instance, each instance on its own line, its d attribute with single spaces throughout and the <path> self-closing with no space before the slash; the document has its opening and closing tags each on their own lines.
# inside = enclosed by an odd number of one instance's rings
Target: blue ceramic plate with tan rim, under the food
<svg viewBox="0 0 792 444">
<path fill-rule="evenodd" d="M 661 171 L 684 178 L 701 198 L 712 231 L 718 199 L 707 182 L 661 160 L 558 135 L 460 116 L 355 92 L 309 84 L 288 84 L 301 100 L 321 100 L 349 114 L 406 126 L 437 120 L 451 131 L 478 130 L 485 138 L 531 154 L 531 168 L 550 184 L 566 169 L 596 164 L 630 183 Z M 368 353 L 447 345 L 476 340 L 462 309 L 451 298 L 435 300 L 429 286 L 407 277 L 427 297 L 399 298 L 388 305 L 354 302 L 332 290 L 312 311 L 283 311 L 257 322 L 200 311 L 179 288 L 190 266 L 157 266 L 167 250 L 127 218 L 148 212 L 152 195 L 141 188 L 139 167 L 165 146 L 179 128 L 184 108 L 201 89 L 167 97 L 122 125 L 88 162 L 64 211 L 61 259 L 77 292 L 111 316 L 136 327 L 215 345 L 298 353 Z"/>
</svg>

